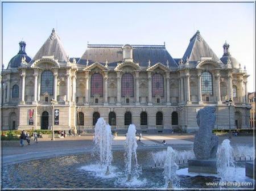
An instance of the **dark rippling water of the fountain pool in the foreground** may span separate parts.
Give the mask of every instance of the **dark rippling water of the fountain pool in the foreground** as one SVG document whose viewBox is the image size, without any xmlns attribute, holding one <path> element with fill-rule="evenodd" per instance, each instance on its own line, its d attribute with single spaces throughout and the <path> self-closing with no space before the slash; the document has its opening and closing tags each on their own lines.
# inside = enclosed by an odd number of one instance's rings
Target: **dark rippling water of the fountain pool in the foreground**
<svg viewBox="0 0 256 191">
<path fill-rule="evenodd" d="M 51 159 L 32 160 L 2 167 L 3 188 L 164 188 L 163 168 L 152 168 L 152 152 L 137 151 L 138 164 L 142 174 L 126 182 L 123 152 L 113 152 L 110 174 L 96 164 L 90 154 L 60 156 Z M 245 171 L 245 168 L 241 168 Z M 244 175 L 243 175 L 244 176 Z M 193 176 L 180 173 L 176 188 L 220 188 L 207 186 L 206 182 L 218 182 L 214 176 Z M 251 179 L 243 179 L 252 182 Z M 234 187 L 228 187 L 234 188 Z M 239 188 L 253 188 L 240 186 Z"/>
</svg>

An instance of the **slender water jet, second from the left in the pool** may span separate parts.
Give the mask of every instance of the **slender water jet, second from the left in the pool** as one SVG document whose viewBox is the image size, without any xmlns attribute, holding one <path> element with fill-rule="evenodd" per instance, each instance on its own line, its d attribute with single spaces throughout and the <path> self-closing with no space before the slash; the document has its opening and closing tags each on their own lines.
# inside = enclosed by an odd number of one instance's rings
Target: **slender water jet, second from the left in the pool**
<svg viewBox="0 0 256 191">
<path fill-rule="evenodd" d="M 127 181 L 131 180 L 131 176 L 138 176 L 140 169 L 137 162 L 137 139 L 136 139 L 136 127 L 134 124 L 130 124 L 125 142 L 125 163 L 127 172 Z M 132 169 L 133 168 L 133 169 Z"/>
</svg>

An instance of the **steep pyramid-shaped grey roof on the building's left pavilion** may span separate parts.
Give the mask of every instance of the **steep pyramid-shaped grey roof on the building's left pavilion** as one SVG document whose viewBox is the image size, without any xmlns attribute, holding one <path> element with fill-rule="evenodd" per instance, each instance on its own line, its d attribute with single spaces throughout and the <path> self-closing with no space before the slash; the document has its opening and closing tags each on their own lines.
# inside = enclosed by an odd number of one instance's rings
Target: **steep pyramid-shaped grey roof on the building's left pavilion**
<svg viewBox="0 0 256 191">
<path fill-rule="evenodd" d="M 48 37 L 43 46 L 38 50 L 31 62 L 41 59 L 43 56 L 54 56 L 54 60 L 58 62 L 68 62 L 68 56 L 65 52 L 60 37 L 57 35 L 55 29 L 52 29 L 51 35 Z"/>
</svg>

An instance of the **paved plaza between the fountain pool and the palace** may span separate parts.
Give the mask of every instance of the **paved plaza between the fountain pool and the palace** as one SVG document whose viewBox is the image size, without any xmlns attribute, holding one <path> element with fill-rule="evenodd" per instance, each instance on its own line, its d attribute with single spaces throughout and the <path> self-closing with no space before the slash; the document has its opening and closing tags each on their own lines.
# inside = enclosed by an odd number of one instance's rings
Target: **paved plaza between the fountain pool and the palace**
<svg viewBox="0 0 256 191">
<path fill-rule="evenodd" d="M 194 134 L 171 134 L 171 135 L 142 135 L 141 141 L 138 141 L 138 149 L 147 148 L 166 148 L 172 146 L 174 148 L 192 148 Z M 228 138 L 220 136 L 219 144 Z M 125 135 L 118 135 L 113 140 L 113 150 L 122 150 L 125 144 Z M 139 137 L 137 137 L 139 139 Z M 165 140 L 167 145 L 163 145 Z M 253 145 L 253 137 L 232 137 L 231 144 Z M 19 146 L 2 146 L 2 163 L 15 163 L 23 160 L 47 158 L 58 155 L 76 154 L 83 152 L 91 152 L 93 149 L 93 135 L 81 135 L 76 137 L 40 138 L 38 143 L 33 143 L 25 147 Z"/>
</svg>

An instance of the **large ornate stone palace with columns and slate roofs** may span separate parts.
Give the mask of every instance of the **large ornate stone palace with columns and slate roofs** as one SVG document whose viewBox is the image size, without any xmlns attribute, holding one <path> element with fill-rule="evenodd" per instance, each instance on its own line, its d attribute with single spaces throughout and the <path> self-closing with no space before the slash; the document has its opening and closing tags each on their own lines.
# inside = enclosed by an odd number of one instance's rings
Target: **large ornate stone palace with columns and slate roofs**
<svg viewBox="0 0 256 191">
<path fill-rule="evenodd" d="M 229 44 L 218 58 L 199 31 L 179 59 L 165 45 L 129 44 L 88 44 L 81 58 L 69 58 L 54 29 L 32 59 L 25 46 L 19 43 L 2 72 L 2 129 L 92 130 L 104 117 L 114 130 L 133 123 L 143 131 L 191 132 L 207 105 L 216 106 L 216 128 L 227 129 L 226 99 L 233 100 L 232 128 L 250 127 L 246 70 Z"/>
</svg>

